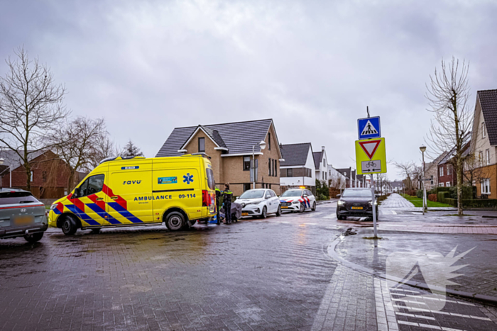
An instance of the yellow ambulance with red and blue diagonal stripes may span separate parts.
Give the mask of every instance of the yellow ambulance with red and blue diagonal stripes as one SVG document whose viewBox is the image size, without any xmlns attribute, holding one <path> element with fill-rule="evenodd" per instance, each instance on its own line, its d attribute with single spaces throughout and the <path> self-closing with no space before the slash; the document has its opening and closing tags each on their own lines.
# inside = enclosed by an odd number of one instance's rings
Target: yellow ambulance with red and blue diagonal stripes
<svg viewBox="0 0 497 331">
<path fill-rule="evenodd" d="M 104 159 L 50 207 L 48 225 L 77 229 L 158 225 L 190 227 L 215 215 L 214 172 L 207 155 Z"/>
</svg>

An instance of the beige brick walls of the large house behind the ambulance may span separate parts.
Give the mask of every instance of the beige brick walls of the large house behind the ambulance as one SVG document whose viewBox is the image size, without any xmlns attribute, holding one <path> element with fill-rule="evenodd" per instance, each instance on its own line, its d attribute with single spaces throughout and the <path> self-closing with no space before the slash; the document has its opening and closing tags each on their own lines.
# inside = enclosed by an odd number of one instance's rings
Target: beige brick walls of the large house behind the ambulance
<svg viewBox="0 0 497 331">
<path fill-rule="evenodd" d="M 258 159 L 258 181 L 256 183 L 257 189 L 263 188 L 264 184 L 271 184 L 271 189 L 276 194 L 280 194 L 280 155 L 278 155 L 278 144 L 275 139 L 275 131 L 273 125 L 269 130 L 271 133 L 271 150 L 269 149 L 269 138 L 266 135 L 266 150 L 263 150 L 264 155 L 256 155 Z M 190 140 L 185 147 L 187 154 L 198 152 L 198 138 L 205 138 L 205 152 L 211 157 L 212 170 L 214 172 L 214 179 L 219 189 L 224 189 L 224 184 L 229 183 L 230 189 L 233 191 L 234 196 L 240 196 L 244 192 L 244 183 L 251 183 L 250 171 L 244 171 L 244 157 L 221 157 L 222 151 L 214 150 L 217 147 L 214 142 L 202 130 Z M 252 157 L 251 153 L 248 155 Z M 277 159 L 276 176 L 269 176 L 269 159 Z"/>
</svg>

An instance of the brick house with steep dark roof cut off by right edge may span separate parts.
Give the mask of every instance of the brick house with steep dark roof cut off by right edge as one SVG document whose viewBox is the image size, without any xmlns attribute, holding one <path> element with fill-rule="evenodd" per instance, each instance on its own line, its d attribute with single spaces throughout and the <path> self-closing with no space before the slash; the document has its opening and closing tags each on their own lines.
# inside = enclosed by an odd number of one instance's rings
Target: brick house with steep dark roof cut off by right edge
<svg viewBox="0 0 497 331">
<path fill-rule="evenodd" d="M 497 89 L 478 91 L 474 108 L 471 154 L 465 177 L 479 197 L 497 198 Z"/>
</svg>

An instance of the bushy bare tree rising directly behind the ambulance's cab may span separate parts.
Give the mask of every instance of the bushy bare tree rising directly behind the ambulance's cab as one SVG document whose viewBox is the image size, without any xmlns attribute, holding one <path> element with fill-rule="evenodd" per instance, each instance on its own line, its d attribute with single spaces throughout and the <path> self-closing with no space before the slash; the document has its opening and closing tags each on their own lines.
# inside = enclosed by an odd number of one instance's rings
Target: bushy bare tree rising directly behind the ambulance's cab
<svg viewBox="0 0 497 331">
<path fill-rule="evenodd" d="M 107 135 L 103 118 L 96 120 L 78 117 L 66 123 L 57 133 L 49 138 L 55 152 L 70 168 L 67 180 L 67 191 L 75 186 L 76 174 L 80 169 L 89 169 L 92 166 L 92 157 L 99 140 Z"/>
</svg>

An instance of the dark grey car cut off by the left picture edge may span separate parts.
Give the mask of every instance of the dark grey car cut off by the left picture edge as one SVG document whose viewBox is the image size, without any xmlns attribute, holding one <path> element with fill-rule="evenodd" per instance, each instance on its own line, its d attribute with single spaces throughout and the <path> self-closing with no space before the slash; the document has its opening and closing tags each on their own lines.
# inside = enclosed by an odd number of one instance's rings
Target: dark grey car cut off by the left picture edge
<svg viewBox="0 0 497 331">
<path fill-rule="evenodd" d="M 24 237 L 37 242 L 47 230 L 45 205 L 20 189 L 0 189 L 0 238 Z"/>
</svg>

